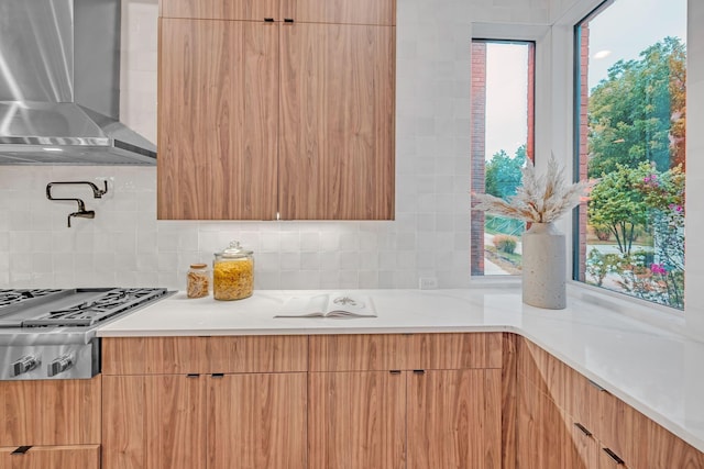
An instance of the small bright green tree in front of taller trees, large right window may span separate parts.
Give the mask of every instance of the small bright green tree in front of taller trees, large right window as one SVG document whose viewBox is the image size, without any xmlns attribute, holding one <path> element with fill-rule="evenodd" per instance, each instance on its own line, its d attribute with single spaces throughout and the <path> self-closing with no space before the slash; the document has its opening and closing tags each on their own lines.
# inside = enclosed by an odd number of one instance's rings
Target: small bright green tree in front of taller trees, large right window
<svg viewBox="0 0 704 469">
<path fill-rule="evenodd" d="M 641 188 L 652 171 L 647 161 L 636 168 L 617 164 L 616 170 L 604 174 L 590 193 L 590 224 L 608 230 L 624 256 L 630 256 L 636 227 L 646 226 L 649 221 L 650 206 Z"/>
</svg>

